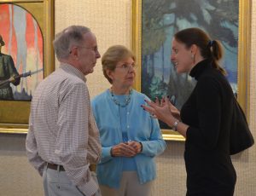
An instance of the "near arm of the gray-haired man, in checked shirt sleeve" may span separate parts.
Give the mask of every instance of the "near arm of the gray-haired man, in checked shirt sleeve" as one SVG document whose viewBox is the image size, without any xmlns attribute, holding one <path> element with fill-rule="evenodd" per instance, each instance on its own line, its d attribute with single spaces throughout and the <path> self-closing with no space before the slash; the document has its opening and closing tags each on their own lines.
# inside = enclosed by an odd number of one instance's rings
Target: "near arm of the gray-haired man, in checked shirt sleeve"
<svg viewBox="0 0 256 196">
<path fill-rule="evenodd" d="M 55 154 L 79 190 L 85 195 L 93 195 L 99 187 L 90 175 L 87 159 L 90 107 L 88 89 L 83 83 L 68 86 L 63 93 L 58 114 Z"/>
</svg>

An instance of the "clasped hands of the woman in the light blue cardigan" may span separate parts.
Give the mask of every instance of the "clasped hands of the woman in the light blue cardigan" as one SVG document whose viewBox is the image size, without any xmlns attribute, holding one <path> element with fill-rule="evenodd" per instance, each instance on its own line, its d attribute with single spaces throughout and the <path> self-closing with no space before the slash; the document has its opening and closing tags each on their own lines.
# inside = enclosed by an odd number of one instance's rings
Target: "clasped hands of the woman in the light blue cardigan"
<svg viewBox="0 0 256 196">
<path fill-rule="evenodd" d="M 135 141 L 129 141 L 129 143 Z M 113 146 L 111 149 L 111 155 L 113 157 L 133 157 L 137 154 L 137 149 L 133 145 L 128 143 L 119 143 L 116 146 Z"/>
</svg>

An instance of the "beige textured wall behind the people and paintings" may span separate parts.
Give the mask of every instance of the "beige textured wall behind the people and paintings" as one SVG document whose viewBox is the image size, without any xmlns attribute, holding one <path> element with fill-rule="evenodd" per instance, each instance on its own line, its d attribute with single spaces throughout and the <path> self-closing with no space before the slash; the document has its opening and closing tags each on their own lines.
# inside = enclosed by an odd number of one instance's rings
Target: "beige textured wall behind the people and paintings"
<svg viewBox="0 0 256 196">
<path fill-rule="evenodd" d="M 256 3 L 253 1 L 252 61 L 250 72 L 250 127 L 256 138 Z M 79 24 L 90 26 L 98 37 L 101 54 L 108 46 L 119 43 L 131 48 L 131 0 L 55 0 L 55 30 Z M 109 87 L 102 77 L 100 61 L 88 77 L 93 97 Z M 42 180 L 27 163 L 26 135 L 0 135 L 0 195 L 43 195 Z M 183 163 L 183 142 L 168 141 L 166 152 L 157 158 L 158 178 L 155 196 L 185 194 L 186 173 Z M 237 171 L 236 195 L 256 193 L 256 146 L 233 157 Z"/>
</svg>

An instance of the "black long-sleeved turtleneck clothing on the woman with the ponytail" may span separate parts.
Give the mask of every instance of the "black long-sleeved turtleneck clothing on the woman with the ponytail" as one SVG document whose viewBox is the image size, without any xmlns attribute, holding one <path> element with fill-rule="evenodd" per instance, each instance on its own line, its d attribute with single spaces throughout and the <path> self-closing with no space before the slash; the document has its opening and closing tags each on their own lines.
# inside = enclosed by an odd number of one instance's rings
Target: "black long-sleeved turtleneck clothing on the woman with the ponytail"
<svg viewBox="0 0 256 196">
<path fill-rule="evenodd" d="M 188 124 L 184 159 L 187 195 L 233 195 L 236 171 L 230 159 L 233 92 L 212 61 L 198 63 L 190 72 L 195 89 L 181 110 Z"/>
</svg>

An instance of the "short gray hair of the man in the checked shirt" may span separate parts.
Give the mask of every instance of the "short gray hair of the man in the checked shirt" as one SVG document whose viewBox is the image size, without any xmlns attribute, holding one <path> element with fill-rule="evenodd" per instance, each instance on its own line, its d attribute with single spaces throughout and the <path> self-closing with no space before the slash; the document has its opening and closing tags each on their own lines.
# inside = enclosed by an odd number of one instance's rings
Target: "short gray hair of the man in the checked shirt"
<svg viewBox="0 0 256 196">
<path fill-rule="evenodd" d="M 86 26 L 68 26 L 62 32 L 57 33 L 53 41 L 57 59 L 59 61 L 67 59 L 73 45 L 83 42 L 83 35 L 87 32 L 90 32 L 90 28 Z"/>
</svg>

